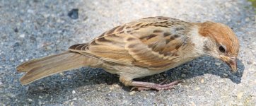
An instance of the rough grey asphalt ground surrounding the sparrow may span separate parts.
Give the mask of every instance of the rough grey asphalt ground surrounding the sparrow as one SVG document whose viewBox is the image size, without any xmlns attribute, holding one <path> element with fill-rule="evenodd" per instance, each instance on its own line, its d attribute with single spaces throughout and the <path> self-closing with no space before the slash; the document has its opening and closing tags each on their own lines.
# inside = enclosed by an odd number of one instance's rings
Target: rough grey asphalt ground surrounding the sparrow
<svg viewBox="0 0 256 106">
<path fill-rule="evenodd" d="M 73 8 L 78 19 L 69 13 Z M 23 61 L 64 52 L 115 25 L 149 16 L 231 26 L 240 40 L 239 73 L 202 57 L 136 79 L 182 80 L 173 90 L 131 92 L 116 75 L 88 67 L 27 86 L 19 82 L 23 73 L 16 66 Z M 0 105 L 256 105 L 255 18 L 255 9 L 245 0 L 0 0 Z"/>
</svg>

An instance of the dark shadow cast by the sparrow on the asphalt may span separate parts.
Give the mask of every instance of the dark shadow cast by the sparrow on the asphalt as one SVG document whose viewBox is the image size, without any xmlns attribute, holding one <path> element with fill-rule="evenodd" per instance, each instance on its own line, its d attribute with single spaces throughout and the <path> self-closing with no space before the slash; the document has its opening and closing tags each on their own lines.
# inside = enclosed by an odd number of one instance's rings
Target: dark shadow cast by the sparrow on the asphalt
<svg viewBox="0 0 256 106">
<path fill-rule="evenodd" d="M 233 83 L 240 83 L 244 69 L 245 67 L 240 60 L 238 60 L 238 72 L 231 73 L 228 65 L 222 61 L 211 57 L 201 57 L 163 73 L 144 78 L 136 78 L 135 81 L 160 83 L 166 78 L 170 79 L 170 81 L 177 81 L 203 76 L 209 73 L 220 76 L 221 78 L 229 78 Z M 98 84 L 112 85 L 115 83 L 123 86 L 119 81 L 119 77 L 115 74 L 107 73 L 103 69 L 82 68 L 79 71 L 68 71 L 64 73 L 64 76 L 57 75 L 37 81 L 28 87 L 28 92 L 50 93 L 54 91 L 56 93 L 84 86 L 95 86 Z M 39 90 L 38 86 L 42 86 L 44 89 Z M 123 89 L 129 90 L 128 87 L 123 87 Z"/>
</svg>

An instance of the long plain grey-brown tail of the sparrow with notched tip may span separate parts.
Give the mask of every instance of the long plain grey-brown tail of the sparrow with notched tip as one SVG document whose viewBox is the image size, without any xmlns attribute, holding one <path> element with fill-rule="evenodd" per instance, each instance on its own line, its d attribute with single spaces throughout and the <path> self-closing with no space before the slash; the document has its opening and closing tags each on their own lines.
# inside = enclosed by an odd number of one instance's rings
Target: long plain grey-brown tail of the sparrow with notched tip
<svg viewBox="0 0 256 106">
<path fill-rule="evenodd" d="M 18 66 L 17 71 L 26 72 L 21 77 L 21 83 L 25 85 L 54 73 L 78 69 L 82 66 L 94 66 L 95 64 L 98 64 L 98 59 L 76 52 L 64 52 L 27 61 Z"/>
</svg>

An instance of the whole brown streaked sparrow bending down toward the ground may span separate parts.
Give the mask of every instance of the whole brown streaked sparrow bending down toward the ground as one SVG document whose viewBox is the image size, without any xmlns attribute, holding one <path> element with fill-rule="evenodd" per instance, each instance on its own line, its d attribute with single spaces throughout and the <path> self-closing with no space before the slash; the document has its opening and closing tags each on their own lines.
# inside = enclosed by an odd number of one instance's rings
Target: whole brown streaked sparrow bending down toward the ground
<svg viewBox="0 0 256 106">
<path fill-rule="evenodd" d="M 209 55 L 237 71 L 238 38 L 222 23 L 192 23 L 163 16 L 142 18 L 119 25 L 91 42 L 72 45 L 66 52 L 26 61 L 17 67 L 25 72 L 23 85 L 55 73 L 83 66 L 103 68 L 120 76 L 124 86 L 137 90 L 168 90 L 168 84 L 133 81 Z"/>
</svg>

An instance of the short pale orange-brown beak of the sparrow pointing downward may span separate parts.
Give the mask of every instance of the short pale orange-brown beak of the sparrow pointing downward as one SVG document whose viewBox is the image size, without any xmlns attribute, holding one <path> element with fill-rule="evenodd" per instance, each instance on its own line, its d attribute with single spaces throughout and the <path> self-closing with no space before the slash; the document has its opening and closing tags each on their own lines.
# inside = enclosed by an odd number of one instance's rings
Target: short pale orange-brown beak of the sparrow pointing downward
<svg viewBox="0 0 256 106">
<path fill-rule="evenodd" d="M 221 60 L 226 62 L 226 64 L 231 67 L 233 73 L 238 71 L 236 57 L 221 56 Z"/>
</svg>

